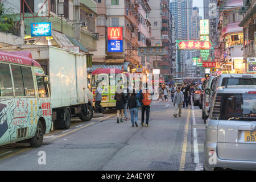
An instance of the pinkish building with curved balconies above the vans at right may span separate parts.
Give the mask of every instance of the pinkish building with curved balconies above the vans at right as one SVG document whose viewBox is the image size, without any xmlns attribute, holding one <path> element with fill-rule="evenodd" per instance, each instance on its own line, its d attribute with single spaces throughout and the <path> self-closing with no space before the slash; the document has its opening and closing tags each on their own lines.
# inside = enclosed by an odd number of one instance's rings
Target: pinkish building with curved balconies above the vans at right
<svg viewBox="0 0 256 182">
<path fill-rule="evenodd" d="M 222 73 L 246 73 L 245 64 L 242 64 L 243 28 L 238 26 L 242 20 L 239 12 L 242 6 L 242 0 L 218 1 L 218 8 L 221 10 L 218 22 L 218 52 Z"/>
</svg>

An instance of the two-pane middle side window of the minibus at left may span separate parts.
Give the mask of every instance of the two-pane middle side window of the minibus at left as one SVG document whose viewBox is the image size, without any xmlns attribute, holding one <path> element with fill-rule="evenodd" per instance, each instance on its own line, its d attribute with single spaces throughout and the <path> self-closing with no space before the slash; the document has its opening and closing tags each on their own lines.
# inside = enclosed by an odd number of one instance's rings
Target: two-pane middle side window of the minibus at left
<svg viewBox="0 0 256 182">
<path fill-rule="evenodd" d="M 35 96 L 35 86 L 30 67 L 11 65 L 15 96 Z"/>
</svg>

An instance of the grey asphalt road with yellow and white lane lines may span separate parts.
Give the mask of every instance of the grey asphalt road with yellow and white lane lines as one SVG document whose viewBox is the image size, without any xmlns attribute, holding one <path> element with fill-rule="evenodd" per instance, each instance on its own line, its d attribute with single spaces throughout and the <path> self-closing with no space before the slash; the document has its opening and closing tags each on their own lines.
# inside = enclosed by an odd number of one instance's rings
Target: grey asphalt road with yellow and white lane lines
<svg viewBox="0 0 256 182">
<path fill-rule="evenodd" d="M 173 114 L 172 102 L 154 101 L 149 127 L 131 127 L 130 113 L 123 123 L 112 112 L 90 122 L 75 118 L 71 129 L 47 134 L 42 147 L 0 147 L 0 170 L 202 170 L 201 110 L 189 106 L 181 118 Z M 40 151 L 46 164 L 38 163 Z"/>
</svg>

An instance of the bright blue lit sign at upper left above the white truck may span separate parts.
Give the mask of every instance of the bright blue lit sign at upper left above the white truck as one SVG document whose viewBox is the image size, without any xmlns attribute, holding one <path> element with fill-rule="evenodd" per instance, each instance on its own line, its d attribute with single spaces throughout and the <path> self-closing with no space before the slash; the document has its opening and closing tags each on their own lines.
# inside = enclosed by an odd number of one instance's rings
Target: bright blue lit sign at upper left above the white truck
<svg viewBox="0 0 256 182">
<path fill-rule="evenodd" d="M 31 36 L 52 36 L 52 23 L 31 23 Z"/>
</svg>

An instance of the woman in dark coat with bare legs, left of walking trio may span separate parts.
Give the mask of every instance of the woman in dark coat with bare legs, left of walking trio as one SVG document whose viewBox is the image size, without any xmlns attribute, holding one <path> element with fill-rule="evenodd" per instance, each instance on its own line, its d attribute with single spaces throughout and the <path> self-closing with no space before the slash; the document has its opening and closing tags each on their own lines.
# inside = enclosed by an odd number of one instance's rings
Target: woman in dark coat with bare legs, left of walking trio
<svg viewBox="0 0 256 182">
<path fill-rule="evenodd" d="M 117 92 L 115 92 L 115 98 L 114 100 L 117 101 L 117 104 L 115 106 L 115 109 L 117 109 L 117 123 L 119 123 L 119 118 L 120 122 L 123 122 L 123 109 L 125 109 L 125 103 L 126 103 L 126 98 L 125 94 L 122 92 L 122 86 L 117 87 Z"/>
</svg>

